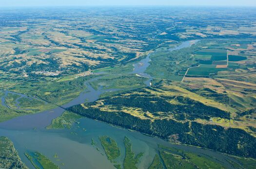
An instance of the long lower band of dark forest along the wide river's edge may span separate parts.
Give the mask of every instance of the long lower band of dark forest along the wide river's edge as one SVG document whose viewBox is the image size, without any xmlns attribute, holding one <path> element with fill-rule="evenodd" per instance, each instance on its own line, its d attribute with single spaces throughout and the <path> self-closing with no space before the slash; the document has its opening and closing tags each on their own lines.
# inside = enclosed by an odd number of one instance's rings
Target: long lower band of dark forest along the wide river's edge
<svg viewBox="0 0 256 169">
<path fill-rule="evenodd" d="M 182 123 L 171 119 L 143 120 L 124 112 L 100 111 L 98 108 L 84 109 L 81 105 L 73 106 L 69 111 L 164 139 L 168 139 L 171 135 L 178 135 L 178 141 L 184 144 L 256 157 L 254 151 L 256 138 L 241 129 L 225 129 L 221 126 L 203 125 L 197 122 L 192 122 L 189 127 L 188 122 Z"/>
</svg>

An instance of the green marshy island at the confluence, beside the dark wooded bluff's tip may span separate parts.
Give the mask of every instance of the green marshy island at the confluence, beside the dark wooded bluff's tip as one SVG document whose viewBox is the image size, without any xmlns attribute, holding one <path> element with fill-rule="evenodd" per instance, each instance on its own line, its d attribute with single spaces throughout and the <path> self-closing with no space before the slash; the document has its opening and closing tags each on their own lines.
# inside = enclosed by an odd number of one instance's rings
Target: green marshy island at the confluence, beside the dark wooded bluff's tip
<svg viewBox="0 0 256 169">
<path fill-rule="evenodd" d="M 75 123 L 80 115 L 65 111 L 61 116 L 52 120 L 52 123 L 46 129 L 70 129 L 72 124 Z"/>
</svg>

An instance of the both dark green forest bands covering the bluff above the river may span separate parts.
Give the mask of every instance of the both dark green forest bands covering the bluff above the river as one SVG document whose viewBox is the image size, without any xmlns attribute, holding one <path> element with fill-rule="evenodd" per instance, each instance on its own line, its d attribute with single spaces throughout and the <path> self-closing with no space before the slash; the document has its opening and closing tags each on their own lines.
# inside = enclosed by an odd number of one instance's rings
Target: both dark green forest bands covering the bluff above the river
<svg viewBox="0 0 256 169">
<path fill-rule="evenodd" d="M 152 88 L 152 87 L 148 87 Z M 154 91 L 157 91 L 155 89 Z M 138 94 L 142 93 L 143 94 Z M 204 92 L 215 94 L 205 89 Z M 129 94 L 129 95 L 128 95 Z M 172 103 L 172 100 L 175 100 Z M 229 119 L 227 112 L 207 106 L 199 101 L 182 96 L 154 96 L 143 89 L 125 92 L 102 99 L 103 105 L 97 102 L 85 103 L 70 107 L 69 110 L 79 115 L 136 130 L 148 135 L 169 139 L 177 135 L 177 141 L 183 144 L 209 148 L 219 152 L 256 157 L 256 138 L 241 129 L 223 128 L 217 125 L 204 125 L 189 120 L 220 117 Z M 177 104 L 178 102 L 178 104 Z M 95 107 L 96 105 L 98 107 Z M 115 107 L 113 111 L 101 111 L 101 107 Z M 122 111 L 122 107 L 140 108 L 162 119 L 141 119 Z M 172 116 L 173 119 L 167 119 Z M 165 119 L 164 119 L 165 118 Z M 151 119 L 151 120 L 150 120 Z M 177 119 L 179 121 L 176 121 Z"/>
</svg>

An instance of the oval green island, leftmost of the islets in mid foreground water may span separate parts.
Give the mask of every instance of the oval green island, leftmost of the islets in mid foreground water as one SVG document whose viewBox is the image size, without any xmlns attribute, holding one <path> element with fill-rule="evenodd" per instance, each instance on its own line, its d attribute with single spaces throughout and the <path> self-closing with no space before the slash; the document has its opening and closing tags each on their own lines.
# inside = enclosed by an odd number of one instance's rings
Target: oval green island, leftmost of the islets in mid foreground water
<svg viewBox="0 0 256 169">
<path fill-rule="evenodd" d="M 108 159 L 111 162 L 114 162 L 114 160 L 121 154 L 117 142 L 109 136 L 100 136 L 98 138 L 101 142 L 102 147 L 105 150 Z"/>
</svg>

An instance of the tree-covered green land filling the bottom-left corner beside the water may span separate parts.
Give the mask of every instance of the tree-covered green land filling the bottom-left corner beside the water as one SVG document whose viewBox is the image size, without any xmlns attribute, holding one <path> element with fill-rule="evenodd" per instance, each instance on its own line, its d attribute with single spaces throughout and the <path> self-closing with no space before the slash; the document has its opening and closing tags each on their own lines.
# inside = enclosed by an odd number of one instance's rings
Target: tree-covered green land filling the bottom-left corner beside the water
<svg viewBox="0 0 256 169">
<path fill-rule="evenodd" d="M 0 137 L 0 168 L 1 169 L 28 169 L 21 161 L 18 152 L 11 140 Z"/>
</svg>

